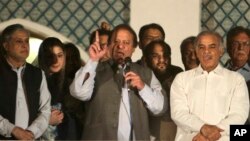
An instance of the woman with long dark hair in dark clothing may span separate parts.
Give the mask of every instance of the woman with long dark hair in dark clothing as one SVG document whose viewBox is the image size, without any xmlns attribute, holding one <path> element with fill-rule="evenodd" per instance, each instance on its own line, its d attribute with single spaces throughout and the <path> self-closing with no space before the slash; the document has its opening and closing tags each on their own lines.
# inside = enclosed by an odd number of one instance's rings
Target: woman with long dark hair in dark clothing
<svg viewBox="0 0 250 141">
<path fill-rule="evenodd" d="M 66 52 L 63 43 L 55 37 L 46 38 L 38 53 L 38 65 L 45 72 L 52 98 L 49 127 L 42 136 L 45 140 L 78 139 L 74 113 L 65 104 L 72 100 L 66 98 L 69 93 L 65 64 Z"/>
</svg>

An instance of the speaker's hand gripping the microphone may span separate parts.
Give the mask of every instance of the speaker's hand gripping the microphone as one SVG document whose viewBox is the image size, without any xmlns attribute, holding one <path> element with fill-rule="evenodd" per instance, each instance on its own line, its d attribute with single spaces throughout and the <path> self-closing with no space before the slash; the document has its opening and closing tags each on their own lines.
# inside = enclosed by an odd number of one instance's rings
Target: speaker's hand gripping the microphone
<svg viewBox="0 0 250 141">
<path fill-rule="evenodd" d="M 143 89 L 145 85 L 145 83 L 141 80 L 141 77 L 132 71 L 125 74 L 125 81 L 129 82 L 130 86 L 137 88 L 138 90 Z"/>
</svg>

